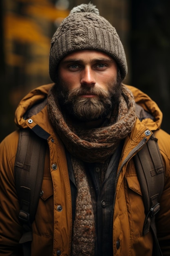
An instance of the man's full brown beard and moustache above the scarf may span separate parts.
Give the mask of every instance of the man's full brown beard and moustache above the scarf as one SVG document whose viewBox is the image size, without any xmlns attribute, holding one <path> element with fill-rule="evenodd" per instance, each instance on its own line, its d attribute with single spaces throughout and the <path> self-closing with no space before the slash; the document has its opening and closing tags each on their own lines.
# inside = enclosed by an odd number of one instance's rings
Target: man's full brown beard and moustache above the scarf
<svg viewBox="0 0 170 256">
<path fill-rule="evenodd" d="M 111 110 L 117 110 L 121 95 L 121 81 L 108 83 L 108 90 L 95 87 L 81 87 L 68 90 L 68 84 L 58 81 L 56 90 L 58 100 L 62 109 L 67 115 L 79 121 L 93 121 L 103 119 Z M 81 95 L 94 94 L 95 97 L 84 98 Z"/>
</svg>

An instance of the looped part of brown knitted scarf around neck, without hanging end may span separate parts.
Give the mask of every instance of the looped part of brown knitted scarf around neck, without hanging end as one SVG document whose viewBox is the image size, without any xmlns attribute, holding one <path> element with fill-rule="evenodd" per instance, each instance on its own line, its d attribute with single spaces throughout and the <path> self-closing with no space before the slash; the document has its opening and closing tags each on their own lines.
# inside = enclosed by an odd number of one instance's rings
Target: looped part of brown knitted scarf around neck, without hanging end
<svg viewBox="0 0 170 256">
<path fill-rule="evenodd" d="M 122 85 L 117 117 L 112 115 L 108 126 L 93 129 L 82 128 L 78 135 L 73 124 L 63 117 L 57 101 L 55 86 L 49 92 L 48 112 L 55 130 L 67 150 L 71 155 L 85 162 L 106 160 L 113 154 L 119 141 L 132 130 L 136 120 L 135 101 L 130 90 L 124 85 Z"/>
</svg>

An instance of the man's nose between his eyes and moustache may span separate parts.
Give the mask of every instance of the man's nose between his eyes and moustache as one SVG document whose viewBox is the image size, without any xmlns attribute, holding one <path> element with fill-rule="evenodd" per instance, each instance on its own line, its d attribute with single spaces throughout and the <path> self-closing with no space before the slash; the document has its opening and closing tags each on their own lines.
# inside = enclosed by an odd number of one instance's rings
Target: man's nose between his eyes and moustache
<svg viewBox="0 0 170 256">
<path fill-rule="evenodd" d="M 85 67 L 84 70 L 82 70 L 80 83 L 84 86 L 95 85 L 95 76 L 91 67 Z"/>
</svg>

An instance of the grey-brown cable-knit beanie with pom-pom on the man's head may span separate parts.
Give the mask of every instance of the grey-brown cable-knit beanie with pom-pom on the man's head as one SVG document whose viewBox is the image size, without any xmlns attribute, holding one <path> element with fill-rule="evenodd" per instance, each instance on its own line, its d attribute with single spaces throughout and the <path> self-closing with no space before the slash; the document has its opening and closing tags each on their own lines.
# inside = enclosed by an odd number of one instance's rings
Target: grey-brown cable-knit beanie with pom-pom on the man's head
<svg viewBox="0 0 170 256">
<path fill-rule="evenodd" d="M 116 29 L 102 16 L 91 3 L 74 7 L 51 40 L 49 74 L 57 81 L 57 66 L 71 52 L 89 49 L 104 52 L 117 62 L 121 79 L 127 74 L 124 47 Z"/>
</svg>

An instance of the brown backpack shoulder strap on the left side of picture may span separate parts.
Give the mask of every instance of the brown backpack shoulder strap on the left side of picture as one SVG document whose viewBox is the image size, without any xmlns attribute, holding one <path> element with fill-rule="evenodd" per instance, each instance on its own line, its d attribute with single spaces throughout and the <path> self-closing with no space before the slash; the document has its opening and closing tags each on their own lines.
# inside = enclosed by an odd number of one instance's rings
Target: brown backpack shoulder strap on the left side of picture
<svg viewBox="0 0 170 256">
<path fill-rule="evenodd" d="M 31 223 L 35 218 L 44 173 L 46 141 L 29 129 L 19 132 L 15 157 L 14 176 L 20 202 L 19 219 L 23 227 L 20 243 L 26 254 L 31 255 Z"/>
</svg>

